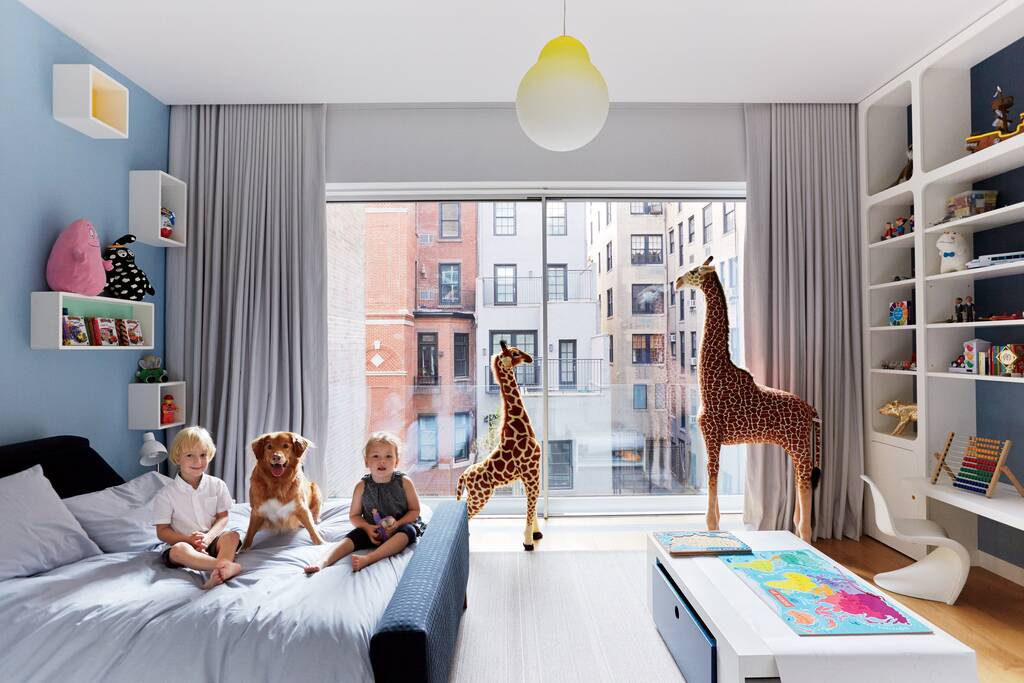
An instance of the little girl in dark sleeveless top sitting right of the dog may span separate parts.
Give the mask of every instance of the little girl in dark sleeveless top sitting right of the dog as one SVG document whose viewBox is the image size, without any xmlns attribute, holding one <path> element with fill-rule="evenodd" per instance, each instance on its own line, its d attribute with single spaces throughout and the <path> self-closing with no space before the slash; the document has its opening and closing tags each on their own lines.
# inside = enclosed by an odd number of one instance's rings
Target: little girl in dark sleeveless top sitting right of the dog
<svg viewBox="0 0 1024 683">
<path fill-rule="evenodd" d="M 362 450 L 370 470 L 355 484 L 348 517 L 355 526 L 318 563 L 305 568 L 306 573 L 331 566 L 355 550 L 373 549 L 366 555 L 352 555 L 352 571 L 390 557 L 422 536 L 420 499 L 416 486 L 404 473 L 396 471 L 401 441 L 388 432 L 374 432 Z M 376 517 L 375 517 L 376 513 Z M 383 532 L 381 528 L 383 527 Z"/>
</svg>

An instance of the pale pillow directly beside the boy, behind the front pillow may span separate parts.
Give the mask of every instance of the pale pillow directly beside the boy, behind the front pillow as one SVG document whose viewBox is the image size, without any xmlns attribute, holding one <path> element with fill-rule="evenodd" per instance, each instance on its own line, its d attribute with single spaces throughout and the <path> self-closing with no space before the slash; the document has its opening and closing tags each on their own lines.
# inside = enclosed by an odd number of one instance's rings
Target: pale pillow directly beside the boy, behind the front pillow
<svg viewBox="0 0 1024 683">
<path fill-rule="evenodd" d="M 65 505 L 104 553 L 150 550 L 160 544 L 153 499 L 170 480 L 146 472 L 119 486 L 67 498 Z"/>
</svg>

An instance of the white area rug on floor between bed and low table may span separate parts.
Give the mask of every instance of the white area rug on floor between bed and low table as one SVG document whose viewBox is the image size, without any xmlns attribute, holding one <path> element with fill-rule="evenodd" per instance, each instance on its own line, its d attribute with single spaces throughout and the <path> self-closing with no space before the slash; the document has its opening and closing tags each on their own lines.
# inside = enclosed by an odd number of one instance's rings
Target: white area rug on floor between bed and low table
<svg viewBox="0 0 1024 683">
<path fill-rule="evenodd" d="M 542 542 L 543 543 L 543 542 Z M 682 682 L 641 552 L 474 552 L 454 683 Z"/>
</svg>

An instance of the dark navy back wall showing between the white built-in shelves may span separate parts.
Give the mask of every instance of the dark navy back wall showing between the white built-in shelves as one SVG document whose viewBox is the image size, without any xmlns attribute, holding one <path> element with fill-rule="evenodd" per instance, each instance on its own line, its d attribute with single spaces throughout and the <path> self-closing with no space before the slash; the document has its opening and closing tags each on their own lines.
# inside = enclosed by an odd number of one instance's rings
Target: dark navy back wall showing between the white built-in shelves
<svg viewBox="0 0 1024 683">
<path fill-rule="evenodd" d="M 971 70 L 971 125 L 973 132 L 992 129 L 992 94 L 1002 86 L 1014 95 L 1016 105 L 1011 120 L 1016 123 L 1024 111 L 1024 39 L 1009 45 Z M 998 189 L 999 206 L 1024 202 L 1024 169 L 1016 169 L 975 183 L 977 189 Z M 1024 223 L 978 232 L 974 253 L 995 254 L 1024 251 Z M 979 315 L 1024 310 L 1024 276 L 997 278 L 975 283 L 975 301 Z M 986 329 L 978 336 L 993 344 L 1024 342 L 1020 328 Z M 1024 473 L 1024 386 L 999 382 L 977 382 L 978 434 L 1013 439 L 1010 466 L 1018 475 Z M 1014 564 L 1024 565 L 1024 531 L 978 518 L 978 547 Z"/>
</svg>

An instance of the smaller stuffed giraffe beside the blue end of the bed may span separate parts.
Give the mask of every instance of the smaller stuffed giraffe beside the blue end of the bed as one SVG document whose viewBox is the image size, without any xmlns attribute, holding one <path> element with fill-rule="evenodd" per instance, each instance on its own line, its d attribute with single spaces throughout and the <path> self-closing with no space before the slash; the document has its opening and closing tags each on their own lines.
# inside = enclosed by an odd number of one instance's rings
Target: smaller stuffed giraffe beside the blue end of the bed
<svg viewBox="0 0 1024 683">
<path fill-rule="evenodd" d="M 526 529 L 522 547 L 534 550 L 534 542 L 543 538 L 537 525 L 537 497 L 541 490 L 541 444 L 529 424 L 529 416 L 522 404 L 515 368 L 522 362 L 534 362 L 525 351 L 509 346 L 504 341 L 502 352 L 490 359 L 490 370 L 502 392 L 502 430 L 498 447 L 484 460 L 466 468 L 459 477 L 456 499 L 462 499 L 465 486 L 469 517 L 472 518 L 490 499 L 498 486 L 522 479 L 526 488 Z"/>
</svg>

